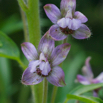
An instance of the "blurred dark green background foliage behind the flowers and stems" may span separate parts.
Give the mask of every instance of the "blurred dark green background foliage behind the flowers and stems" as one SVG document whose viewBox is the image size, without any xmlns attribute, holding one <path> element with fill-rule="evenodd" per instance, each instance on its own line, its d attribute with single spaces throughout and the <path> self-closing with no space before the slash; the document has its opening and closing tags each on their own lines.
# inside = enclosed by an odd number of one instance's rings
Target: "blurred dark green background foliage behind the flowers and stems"
<svg viewBox="0 0 103 103">
<path fill-rule="evenodd" d="M 54 3 L 60 7 L 60 1 L 40 0 L 42 35 L 52 25 L 44 13 L 43 6 L 47 3 Z M 66 94 L 79 85 L 74 81 L 77 73 L 81 71 L 86 57 L 92 57 L 91 65 L 95 76 L 103 71 L 103 0 L 77 0 L 76 10 L 88 17 L 86 25 L 91 29 L 92 36 L 87 40 L 76 40 L 69 37 L 68 43 L 71 44 L 71 50 L 62 67 L 67 85 L 58 88 L 55 103 L 63 103 Z M 24 36 L 17 0 L 0 0 L 0 31 L 9 35 L 21 53 L 20 44 L 24 41 Z M 23 53 L 21 53 L 21 58 L 24 58 Z M 16 61 L 0 57 L 0 103 L 31 103 L 29 86 L 20 83 L 22 73 L 23 71 Z M 50 103 L 52 88 L 53 85 L 49 84 L 48 103 Z M 103 97 L 101 96 L 101 98 Z"/>
</svg>

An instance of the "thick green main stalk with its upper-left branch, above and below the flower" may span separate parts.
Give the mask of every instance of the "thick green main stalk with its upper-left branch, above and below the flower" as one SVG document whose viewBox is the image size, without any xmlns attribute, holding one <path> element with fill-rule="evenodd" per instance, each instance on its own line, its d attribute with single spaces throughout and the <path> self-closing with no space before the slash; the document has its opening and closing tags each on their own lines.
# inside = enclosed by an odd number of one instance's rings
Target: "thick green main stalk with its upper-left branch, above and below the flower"
<svg viewBox="0 0 103 103">
<path fill-rule="evenodd" d="M 18 0 L 22 10 L 26 13 L 29 41 L 37 48 L 40 41 L 40 17 L 39 17 L 39 1 L 29 0 L 28 6 L 23 0 Z M 35 103 L 42 103 L 43 83 L 33 86 L 32 93 L 34 94 Z M 33 88 L 32 87 L 32 88 Z"/>
</svg>

